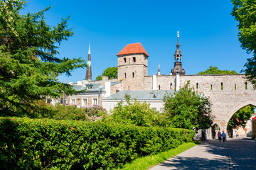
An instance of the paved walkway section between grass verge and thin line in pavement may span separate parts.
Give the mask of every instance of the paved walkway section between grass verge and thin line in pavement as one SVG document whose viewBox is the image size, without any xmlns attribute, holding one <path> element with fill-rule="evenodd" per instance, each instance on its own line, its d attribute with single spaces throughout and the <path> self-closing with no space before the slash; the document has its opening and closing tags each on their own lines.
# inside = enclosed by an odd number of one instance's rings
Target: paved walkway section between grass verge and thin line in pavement
<svg viewBox="0 0 256 170">
<path fill-rule="evenodd" d="M 226 143 L 208 140 L 176 157 L 168 159 L 151 170 L 166 169 L 230 169 Z"/>
</svg>

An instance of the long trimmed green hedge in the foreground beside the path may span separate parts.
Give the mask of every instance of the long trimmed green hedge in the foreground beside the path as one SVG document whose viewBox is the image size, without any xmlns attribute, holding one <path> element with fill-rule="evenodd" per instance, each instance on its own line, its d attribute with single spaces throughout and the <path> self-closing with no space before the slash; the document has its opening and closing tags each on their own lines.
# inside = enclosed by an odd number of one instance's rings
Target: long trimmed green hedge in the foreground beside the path
<svg viewBox="0 0 256 170">
<path fill-rule="evenodd" d="M 0 118 L 0 169 L 112 169 L 193 140 L 193 130 Z"/>
</svg>

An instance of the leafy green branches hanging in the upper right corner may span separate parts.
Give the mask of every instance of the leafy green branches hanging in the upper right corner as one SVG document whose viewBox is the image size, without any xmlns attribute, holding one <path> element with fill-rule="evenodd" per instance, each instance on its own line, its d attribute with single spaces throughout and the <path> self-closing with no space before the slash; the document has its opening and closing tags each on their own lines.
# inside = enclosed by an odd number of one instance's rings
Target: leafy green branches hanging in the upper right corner
<svg viewBox="0 0 256 170">
<path fill-rule="evenodd" d="M 245 77 L 256 88 L 256 1 L 252 0 L 232 0 L 234 4 L 232 16 L 238 21 L 238 37 L 243 50 L 253 57 L 247 59 L 245 64 Z"/>
</svg>

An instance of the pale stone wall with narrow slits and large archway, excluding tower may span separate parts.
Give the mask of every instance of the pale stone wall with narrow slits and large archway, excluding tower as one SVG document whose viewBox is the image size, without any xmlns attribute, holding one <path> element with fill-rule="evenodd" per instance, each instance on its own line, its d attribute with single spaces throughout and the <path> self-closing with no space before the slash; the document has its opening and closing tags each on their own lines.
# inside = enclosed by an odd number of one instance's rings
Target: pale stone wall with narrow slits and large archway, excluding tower
<svg viewBox="0 0 256 170">
<path fill-rule="evenodd" d="M 216 123 L 221 130 L 225 130 L 228 121 L 233 114 L 241 108 L 256 106 L 256 91 L 252 84 L 246 81 L 245 74 L 216 74 L 216 75 L 180 75 L 180 86 L 186 86 L 187 82 L 200 94 L 205 94 L 210 101 L 213 125 Z M 127 84 L 136 84 L 134 81 Z M 156 76 L 156 90 L 174 89 L 175 75 Z M 135 90 L 152 90 L 153 77 L 146 76 L 143 79 L 143 87 L 137 86 Z M 127 88 L 124 86 L 124 89 Z"/>
</svg>

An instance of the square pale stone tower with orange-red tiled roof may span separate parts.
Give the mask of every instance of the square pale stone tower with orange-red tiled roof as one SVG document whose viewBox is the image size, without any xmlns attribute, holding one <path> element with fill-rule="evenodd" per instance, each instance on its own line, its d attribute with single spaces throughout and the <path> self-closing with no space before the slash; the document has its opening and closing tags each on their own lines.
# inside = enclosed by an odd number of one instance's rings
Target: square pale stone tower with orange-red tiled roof
<svg viewBox="0 0 256 170">
<path fill-rule="evenodd" d="M 148 57 L 140 42 L 125 46 L 118 54 L 118 81 L 124 90 L 143 89 L 144 76 L 148 75 Z"/>
</svg>

